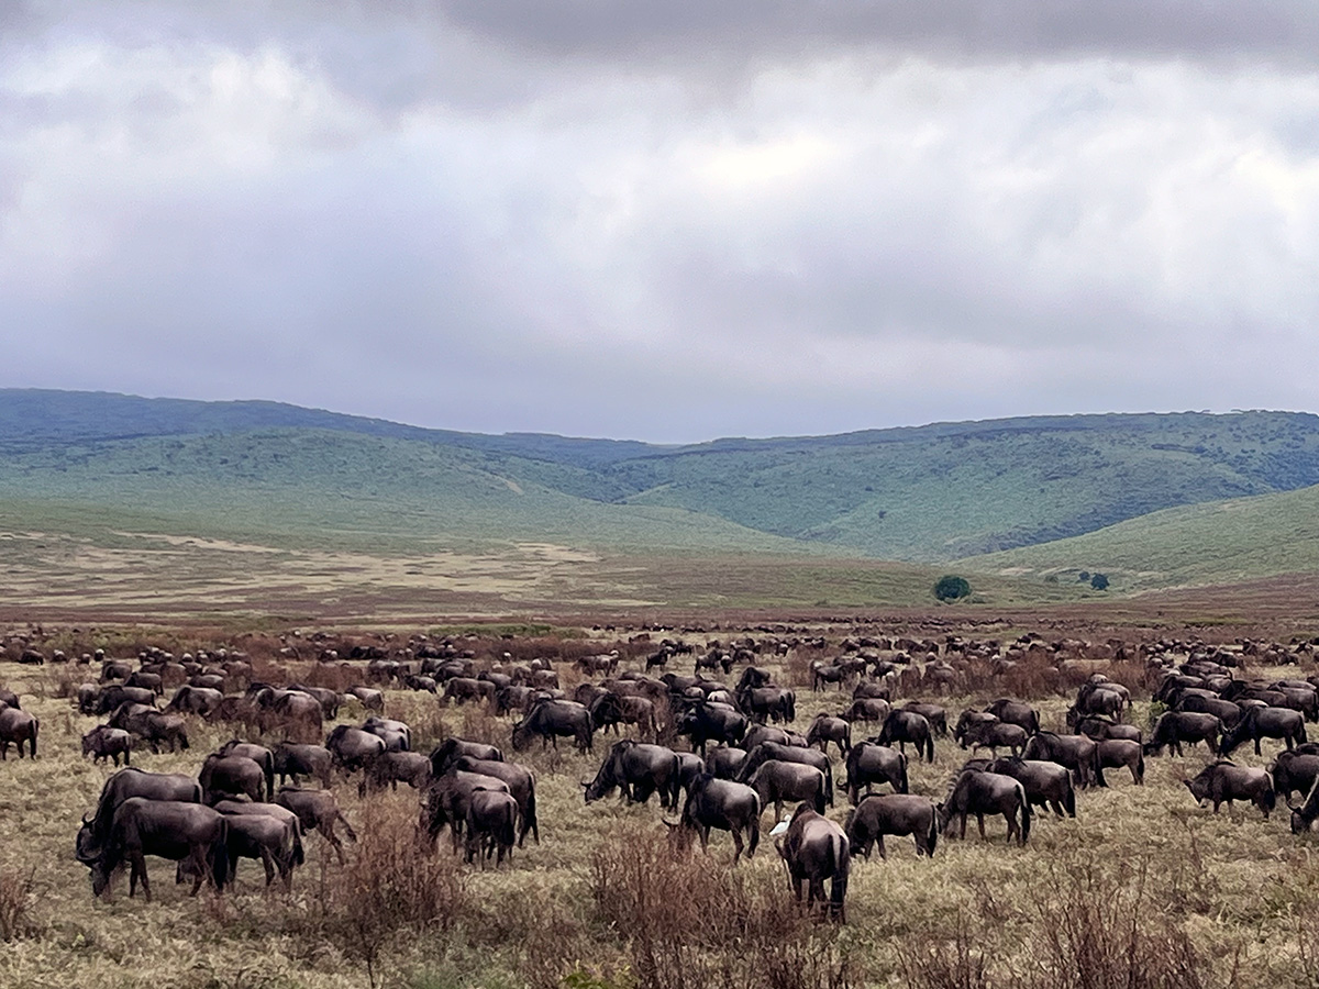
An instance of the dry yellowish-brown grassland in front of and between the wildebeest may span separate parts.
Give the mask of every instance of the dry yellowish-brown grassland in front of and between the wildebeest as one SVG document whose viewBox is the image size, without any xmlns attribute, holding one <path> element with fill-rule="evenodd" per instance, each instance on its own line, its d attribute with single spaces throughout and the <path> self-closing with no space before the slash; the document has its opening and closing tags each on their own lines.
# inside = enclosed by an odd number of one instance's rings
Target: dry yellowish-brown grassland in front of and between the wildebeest
<svg viewBox="0 0 1319 989">
<path fill-rule="evenodd" d="M 930 621 L 950 630 L 936 616 Z M 1054 624 L 1058 634 L 1076 628 Z M 838 637 L 849 629 L 819 630 Z M 565 632 L 567 638 L 512 647 L 518 657 L 611 644 L 627 654 L 644 649 Z M 150 637 L 133 629 L 54 634 L 50 645 L 77 650 L 99 641 L 112 651 Z M 156 641 L 181 650 L 215 644 L 207 634 L 178 628 L 158 630 Z M 227 641 L 251 650 L 262 676 L 305 674 L 261 659 L 272 655 L 274 636 Z M 510 646 L 499 638 L 471 645 L 483 659 Z M 806 719 L 840 703 L 834 692 L 802 687 L 809 658 L 773 663 L 781 680 L 798 687 Z M 571 687 L 571 667 L 561 673 Z M 1141 669 L 1112 673 L 1148 698 Z M 670 851 L 653 804 L 583 806 L 578 779 L 598 765 L 599 742 L 594 757 L 567 749 L 518 756 L 541 781 L 542 843 L 517 852 L 512 868 L 468 869 L 447 849 L 434 860 L 417 856 L 412 791 L 359 800 L 355 786 L 338 783 L 363 841 L 340 868 L 313 837 L 289 898 L 262 891 L 259 869 L 245 862 L 236 891 L 189 899 L 169 882 L 168 864 L 149 860 L 156 902 L 128 899 L 123 880 L 112 901 L 94 902 L 87 872 L 71 854 L 79 815 L 111 771 L 78 756 L 78 736 L 94 719 L 58 696 L 61 680 L 70 679 L 62 671 L 5 663 L 0 674 L 44 731 L 41 758 L 0 764 L 0 932 L 12 938 L 0 952 L 4 985 L 1262 989 L 1319 981 L 1312 840 L 1290 835 L 1285 812 L 1265 822 L 1240 807 L 1216 816 L 1196 808 L 1179 781 L 1198 771 L 1203 753 L 1150 760 L 1144 787 L 1113 773 L 1108 790 L 1080 795 L 1076 820 L 1037 818 L 1025 848 L 1002 843 L 1001 822 L 989 822 L 989 841 L 975 837 L 972 824 L 966 841 L 944 840 L 933 860 L 893 840 L 886 862 L 856 865 L 842 930 L 793 910 L 769 843 L 733 869 L 731 843 L 716 832 L 710 856 L 698 851 L 689 861 Z M 942 702 L 958 711 L 1014 692 L 1030 696 L 1054 724 L 1070 690 L 1057 674 L 1018 671 L 1006 680 L 977 676 Z M 390 691 L 386 709 L 414 727 L 418 748 L 450 732 L 508 748 L 509 723 L 471 707 L 442 708 L 427 695 Z M 1149 713 L 1140 700 L 1134 720 L 1145 723 Z M 189 753 L 148 753 L 135 764 L 195 773 L 227 734 L 194 725 L 193 737 Z M 1266 744 L 1264 758 L 1248 750 L 1240 758 L 1264 764 L 1272 752 Z M 940 741 L 933 765 L 913 764 L 913 790 L 942 795 L 964 757 Z"/>
</svg>

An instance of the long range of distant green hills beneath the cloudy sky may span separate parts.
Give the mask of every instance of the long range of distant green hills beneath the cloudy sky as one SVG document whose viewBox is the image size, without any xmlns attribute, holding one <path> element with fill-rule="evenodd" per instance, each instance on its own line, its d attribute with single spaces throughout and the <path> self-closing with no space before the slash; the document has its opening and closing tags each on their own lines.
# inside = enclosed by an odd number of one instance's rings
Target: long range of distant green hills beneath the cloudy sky
<svg viewBox="0 0 1319 989">
<path fill-rule="evenodd" d="M 272 534 L 935 563 L 1319 484 L 1319 417 L 1028 417 L 662 447 L 277 402 L 0 390 L 0 497 Z M 214 522 L 207 522 L 214 524 Z"/>
</svg>

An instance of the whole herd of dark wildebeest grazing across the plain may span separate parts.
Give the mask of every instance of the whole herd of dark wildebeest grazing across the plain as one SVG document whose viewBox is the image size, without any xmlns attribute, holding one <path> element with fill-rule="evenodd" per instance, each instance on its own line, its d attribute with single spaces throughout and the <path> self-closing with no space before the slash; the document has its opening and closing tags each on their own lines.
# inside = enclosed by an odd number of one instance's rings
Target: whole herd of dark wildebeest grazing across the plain
<svg viewBox="0 0 1319 989">
<path fill-rule="evenodd" d="M 203 884 L 230 886 L 241 858 L 264 865 L 266 885 L 278 876 L 289 889 L 309 832 L 344 861 L 340 833 L 356 835 L 335 787 L 353 781 L 360 799 L 398 783 L 418 791 L 425 853 L 435 853 L 447 827 L 454 854 L 501 866 L 528 836 L 541 841 L 537 774 L 505 756 L 558 749 L 559 740 L 570 740 L 583 769 L 595 766 L 580 781 L 584 804 L 613 793 L 628 804 L 656 796 L 675 849 L 696 839 L 707 848 L 711 832 L 725 831 L 732 861 L 752 857 L 772 812 L 794 893 L 839 919 L 853 856 L 877 849 L 884 857 L 885 837 L 909 836 L 919 856 L 934 856 L 940 836 L 966 837 L 971 818 L 985 839 L 985 818 L 1001 816 L 1006 841 L 1026 844 L 1035 815 L 1075 818 L 1078 793 L 1109 786 L 1115 771 L 1144 785 L 1148 757 L 1202 742 L 1211 761 L 1184 781 L 1198 803 L 1217 812 L 1241 800 L 1268 819 L 1281 794 L 1293 832 L 1319 819 L 1319 744 L 1306 740 L 1306 723 L 1319 717 L 1319 676 L 1258 680 L 1249 675 L 1261 665 L 1253 644 L 1109 644 L 1115 655 L 1101 658 L 1079 646 L 1038 636 L 1000 644 L 747 634 L 703 649 L 665 640 L 658 651 L 628 658 L 613 649 L 572 662 L 513 662 L 508 653 L 479 657 L 463 640 L 417 637 L 392 650 L 342 658 L 327 650 L 306 661 L 309 670 L 360 675 L 344 690 L 266 682 L 247 657 L 223 650 L 178 659 L 148 650 L 132 662 L 96 654 L 84 657 L 88 682 L 70 698 L 79 712 L 106 717 L 83 736 L 82 753 L 115 771 L 71 844 L 95 895 L 127 864 L 129 894 L 141 884 L 149 898 L 150 856 L 175 861 L 177 881 L 190 881 L 194 894 Z M 691 675 L 652 675 L 679 657 L 690 657 Z M 1310 662 L 1303 647 L 1272 658 Z M 1047 673 L 1055 695 L 1072 684 L 1055 729 L 1039 698 L 946 708 L 951 696 L 1012 684 L 1018 670 Z M 810 708 L 826 708 L 805 724 L 799 690 L 810 691 Z M 427 703 L 446 709 L 481 705 L 504 719 L 496 724 L 506 734 L 418 738 L 385 716 L 397 691 L 434 695 Z M 1144 728 L 1133 720 L 1133 695 L 1153 705 Z M 352 723 L 327 728 L 350 711 Z M 131 764 L 144 748 L 189 750 L 198 721 L 231 725 L 241 737 L 199 757 L 195 775 Z M 0 691 L 0 758 L 11 744 L 36 758 L 38 728 L 18 696 Z M 615 738 L 601 749 L 604 733 Z M 1261 740 L 1285 746 L 1268 767 L 1228 758 L 1246 741 L 1260 754 Z M 913 793 L 909 758 L 934 764 L 936 742 L 956 746 L 955 767 L 942 789 Z M 876 793 L 885 786 L 889 793 Z"/>
</svg>

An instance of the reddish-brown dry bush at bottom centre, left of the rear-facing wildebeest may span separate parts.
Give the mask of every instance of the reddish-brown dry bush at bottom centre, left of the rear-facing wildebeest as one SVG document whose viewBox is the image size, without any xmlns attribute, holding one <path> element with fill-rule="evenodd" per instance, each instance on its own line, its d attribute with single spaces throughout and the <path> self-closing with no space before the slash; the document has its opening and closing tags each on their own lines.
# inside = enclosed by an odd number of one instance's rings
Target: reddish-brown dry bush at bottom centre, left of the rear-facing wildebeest
<svg viewBox="0 0 1319 989">
<path fill-rule="evenodd" d="M 786 884 L 707 856 L 675 854 L 652 828 L 621 827 L 591 860 L 600 919 L 627 940 L 638 986 L 847 989 L 838 930 L 807 916 Z"/>
</svg>

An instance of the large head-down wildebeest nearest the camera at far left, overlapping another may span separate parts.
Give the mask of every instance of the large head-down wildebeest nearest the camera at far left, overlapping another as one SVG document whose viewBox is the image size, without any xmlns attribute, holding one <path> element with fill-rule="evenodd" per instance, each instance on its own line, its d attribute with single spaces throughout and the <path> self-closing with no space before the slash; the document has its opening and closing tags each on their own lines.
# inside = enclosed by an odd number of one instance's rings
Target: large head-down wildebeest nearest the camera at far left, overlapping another
<svg viewBox="0 0 1319 989">
<path fill-rule="evenodd" d="M 127 770 L 125 770 L 127 771 Z M 152 899 L 146 878 L 145 856 L 178 861 L 190 858 L 193 895 L 210 880 L 224 889 L 230 873 L 228 823 L 223 814 L 198 803 L 152 800 L 129 796 L 119 804 L 99 845 L 79 843 L 79 860 L 91 869 L 91 891 L 100 897 L 109 890 L 109 880 L 127 858 L 132 865 L 128 895 L 137 893 L 141 880 L 146 902 Z"/>
</svg>

